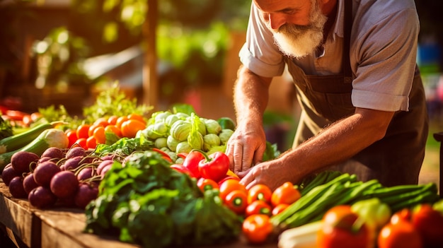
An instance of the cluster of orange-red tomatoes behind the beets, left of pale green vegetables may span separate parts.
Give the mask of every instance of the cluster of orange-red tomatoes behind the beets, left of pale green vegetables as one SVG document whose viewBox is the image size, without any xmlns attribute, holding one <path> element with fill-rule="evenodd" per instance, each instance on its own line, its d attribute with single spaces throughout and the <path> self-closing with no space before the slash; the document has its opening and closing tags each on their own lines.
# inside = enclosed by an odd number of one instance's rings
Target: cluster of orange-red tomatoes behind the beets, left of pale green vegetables
<svg viewBox="0 0 443 248">
<path fill-rule="evenodd" d="M 65 134 L 69 138 L 69 147 L 78 144 L 85 149 L 94 149 L 97 144 L 106 142 L 106 132 L 112 132 L 120 138 L 134 138 L 137 131 L 145 128 L 146 121 L 142 115 L 113 115 L 96 119 L 92 124 L 81 124 L 76 129 L 68 129 Z"/>
</svg>

